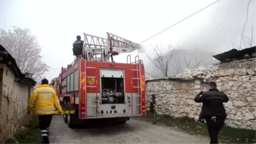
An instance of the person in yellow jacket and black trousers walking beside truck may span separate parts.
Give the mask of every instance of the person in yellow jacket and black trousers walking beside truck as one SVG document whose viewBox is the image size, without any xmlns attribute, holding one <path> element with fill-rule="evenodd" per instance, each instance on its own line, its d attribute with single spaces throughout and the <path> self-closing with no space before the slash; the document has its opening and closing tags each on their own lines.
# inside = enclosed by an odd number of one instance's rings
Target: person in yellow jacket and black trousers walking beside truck
<svg viewBox="0 0 256 144">
<path fill-rule="evenodd" d="M 47 79 L 41 81 L 41 85 L 33 91 L 33 95 L 29 98 L 27 113 L 30 114 L 34 108 L 35 115 L 39 115 L 39 128 L 41 131 L 41 143 L 49 144 L 49 126 L 51 119 L 56 114 L 62 115 L 61 105 L 55 90 L 48 84 Z"/>
</svg>

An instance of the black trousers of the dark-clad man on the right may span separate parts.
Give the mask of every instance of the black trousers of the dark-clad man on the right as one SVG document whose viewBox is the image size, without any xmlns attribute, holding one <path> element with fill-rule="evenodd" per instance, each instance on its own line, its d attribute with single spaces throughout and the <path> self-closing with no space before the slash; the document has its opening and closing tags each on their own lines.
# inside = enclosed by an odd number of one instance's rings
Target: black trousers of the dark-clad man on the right
<svg viewBox="0 0 256 144">
<path fill-rule="evenodd" d="M 218 144 L 218 134 L 225 123 L 226 117 L 205 117 L 208 133 L 211 139 L 210 144 Z"/>
</svg>

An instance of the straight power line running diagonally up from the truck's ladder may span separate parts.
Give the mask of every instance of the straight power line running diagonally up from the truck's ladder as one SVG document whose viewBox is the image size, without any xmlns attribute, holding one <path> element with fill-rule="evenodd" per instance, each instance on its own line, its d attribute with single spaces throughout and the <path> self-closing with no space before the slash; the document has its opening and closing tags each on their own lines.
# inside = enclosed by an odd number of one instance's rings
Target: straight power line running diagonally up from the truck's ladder
<svg viewBox="0 0 256 144">
<path fill-rule="evenodd" d="M 200 9 L 199 11 L 193 13 L 192 15 L 189 15 L 189 16 L 185 17 L 184 19 L 181 19 L 181 21 L 178 21 L 177 23 L 174 23 L 173 25 L 171 25 L 171 26 L 169 26 L 169 27 L 163 29 L 162 31 L 159 31 L 158 33 L 156 33 L 155 35 L 152 35 L 151 37 L 145 39 L 145 40 L 142 41 L 141 43 L 144 43 L 145 41 L 148 41 L 149 39 L 152 39 L 153 37 L 159 35 L 160 33 L 163 33 L 164 31 L 167 31 L 167 30 L 170 29 L 171 27 L 174 27 L 175 25 L 177 25 L 177 24 L 179 24 L 179 23 L 185 21 L 186 19 L 189 19 L 189 18 L 192 17 L 193 15 L 196 15 L 197 13 L 203 11 L 204 9 L 207 9 L 208 7 L 211 7 L 211 5 L 214 5 L 215 3 L 219 2 L 219 1 L 221 1 L 221 0 L 217 0 L 217 1 L 213 2 L 213 3 L 211 3 L 210 5 L 207 5 L 206 7 L 203 7 L 203 9 Z M 139 43 L 139 45 L 140 45 L 141 43 Z"/>
</svg>

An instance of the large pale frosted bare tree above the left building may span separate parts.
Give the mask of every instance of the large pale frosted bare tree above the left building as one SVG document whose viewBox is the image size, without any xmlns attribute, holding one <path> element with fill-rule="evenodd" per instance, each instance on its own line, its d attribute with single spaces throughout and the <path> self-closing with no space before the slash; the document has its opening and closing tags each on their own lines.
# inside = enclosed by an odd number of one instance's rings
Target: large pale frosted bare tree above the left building
<svg viewBox="0 0 256 144">
<path fill-rule="evenodd" d="M 49 66 L 42 61 L 41 47 L 29 29 L 13 28 L 13 31 L 0 29 L 0 43 L 15 58 L 19 69 L 23 73 L 33 73 L 38 81 L 49 71 Z"/>
</svg>

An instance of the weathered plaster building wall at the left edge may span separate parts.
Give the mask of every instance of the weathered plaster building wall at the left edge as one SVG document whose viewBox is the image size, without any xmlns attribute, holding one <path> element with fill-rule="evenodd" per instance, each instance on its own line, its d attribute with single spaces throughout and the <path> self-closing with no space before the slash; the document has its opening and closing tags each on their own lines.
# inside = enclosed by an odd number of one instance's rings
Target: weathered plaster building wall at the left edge
<svg viewBox="0 0 256 144">
<path fill-rule="evenodd" d="M 0 143 L 12 137 L 13 134 L 25 125 L 31 116 L 27 115 L 27 101 L 29 91 L 28 84 L 15 81 L 15 75 L 6 65 L 0 65 L 3 69 L 3 85 L 0 101 Z"/>
</svg>

